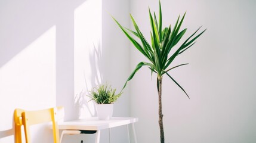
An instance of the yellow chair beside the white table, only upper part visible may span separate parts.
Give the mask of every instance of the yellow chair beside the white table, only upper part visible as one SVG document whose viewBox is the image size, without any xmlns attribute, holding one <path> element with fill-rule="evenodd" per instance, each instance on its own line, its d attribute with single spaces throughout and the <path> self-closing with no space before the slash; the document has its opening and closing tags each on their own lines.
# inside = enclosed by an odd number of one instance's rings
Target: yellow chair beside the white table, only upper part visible
<svg viewBox="0 0 256 143">
<path fill-rule="evenodd" d="M 14 111 L 14 121 L 16 128 L 16 143 L 21 143 L 21 126 L 24 126 L 24 134 L 26 143 L 31 143 L 30 138 L 30 126 L 38 125 L 41 123 L 51 122 L 53 125 L 53 139 L 54 143 L 59 143 L 59 133 L 57 124 L 58 110 L 62 110 L 63 107 L 48 108 L 44 110 L 26 111 L 22 109 L 16 109 Z M 21 115 L 21 116 L 20 116 Z"/>
</svg>

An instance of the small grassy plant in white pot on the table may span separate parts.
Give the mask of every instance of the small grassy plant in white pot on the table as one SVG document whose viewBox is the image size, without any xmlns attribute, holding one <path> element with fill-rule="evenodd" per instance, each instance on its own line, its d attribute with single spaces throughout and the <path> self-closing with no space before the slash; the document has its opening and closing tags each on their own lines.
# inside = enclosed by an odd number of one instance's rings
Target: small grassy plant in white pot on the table
<svg viewBox="0 0 256 143">
<path fill-rule="evenodd" d="M 111 85 L 109 86 L 107 84 L 98 85 L 92 88 L 89 92 L 88 97 L 96 103 L 98 119 L 109 120 L 112 118 L 113 103 L 118 100 L 122 94 L 121 92 L 119 94 L 115 94 L 115 92 L 116 89 L 112 89 Z"/>
</svg>

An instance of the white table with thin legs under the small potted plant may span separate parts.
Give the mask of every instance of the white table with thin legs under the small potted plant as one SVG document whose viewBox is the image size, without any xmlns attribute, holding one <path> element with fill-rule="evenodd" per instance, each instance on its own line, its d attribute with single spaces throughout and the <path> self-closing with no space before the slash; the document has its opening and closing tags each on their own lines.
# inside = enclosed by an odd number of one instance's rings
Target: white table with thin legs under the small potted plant
<svg viewBox="0 0 256 143">
<path fill-rule="evenodd" d="M 109 129 L 109 142 L 110 142 L 110 128 L 127 125 L 128 139 L 129 139 L 129 127 L 132 125 L 132 131 L 134 134 L 134 141 L 137 143 L 134 123 L 138 122 L 138 118 L 134 117 L 112 117 L 110 120 L 98 120 L 97 117 L 90 119 L 70 120 L 66 122 L 58 122 L 58 129 L 60 130 L 95 130 L 96 138 L 95 143 L 100 142 L 100 130 Z M 130 141 L 129 141 L 130 142 Z"/>
</svg>

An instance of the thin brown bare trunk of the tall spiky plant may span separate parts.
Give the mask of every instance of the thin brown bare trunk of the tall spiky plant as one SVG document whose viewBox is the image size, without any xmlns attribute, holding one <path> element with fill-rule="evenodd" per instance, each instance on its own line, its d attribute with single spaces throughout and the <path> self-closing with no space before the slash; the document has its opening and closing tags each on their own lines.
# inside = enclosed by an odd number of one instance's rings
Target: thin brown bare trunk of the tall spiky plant
<svg viewBox="0 0 256 143">
<path fill-rule="evenodd" d="M 158 77 L 158 116 L 159 116 L 159 128 L 160 128 L 160 139 L 161 143 L 165 142 L 164 125 L 163 125 L 163 114 L 162 114 L 162 77 Z"/>
</svg>

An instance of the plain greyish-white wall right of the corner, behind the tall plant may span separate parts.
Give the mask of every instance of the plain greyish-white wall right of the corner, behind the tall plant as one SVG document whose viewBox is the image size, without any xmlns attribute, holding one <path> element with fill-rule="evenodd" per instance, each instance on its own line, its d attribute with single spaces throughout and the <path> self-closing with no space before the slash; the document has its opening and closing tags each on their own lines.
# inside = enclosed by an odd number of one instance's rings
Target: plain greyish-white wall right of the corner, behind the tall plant
<svg viewBox="0 0 256 143">
<path fill-rule="evenodd" d="M 175 24 L 187 11 L 187 38 L 199 26 L 207 28 L 197 43 L 172 66 L 190 63 L 170 74 L 186 95 L 164 76 L 163 104 L 166 142 L 255 142 L 255 1 L 162 0 L 164 26 Z M 148 6 L 158 12 L 158 1 L 131 1 L 131 13 L 149 38 Z M 147 61 L 131 46 L 131 71 Z M 131 87 L 131 116 L 138 142 L 159 142 L 156 76 L 142 68 Z"/>
</svg>

